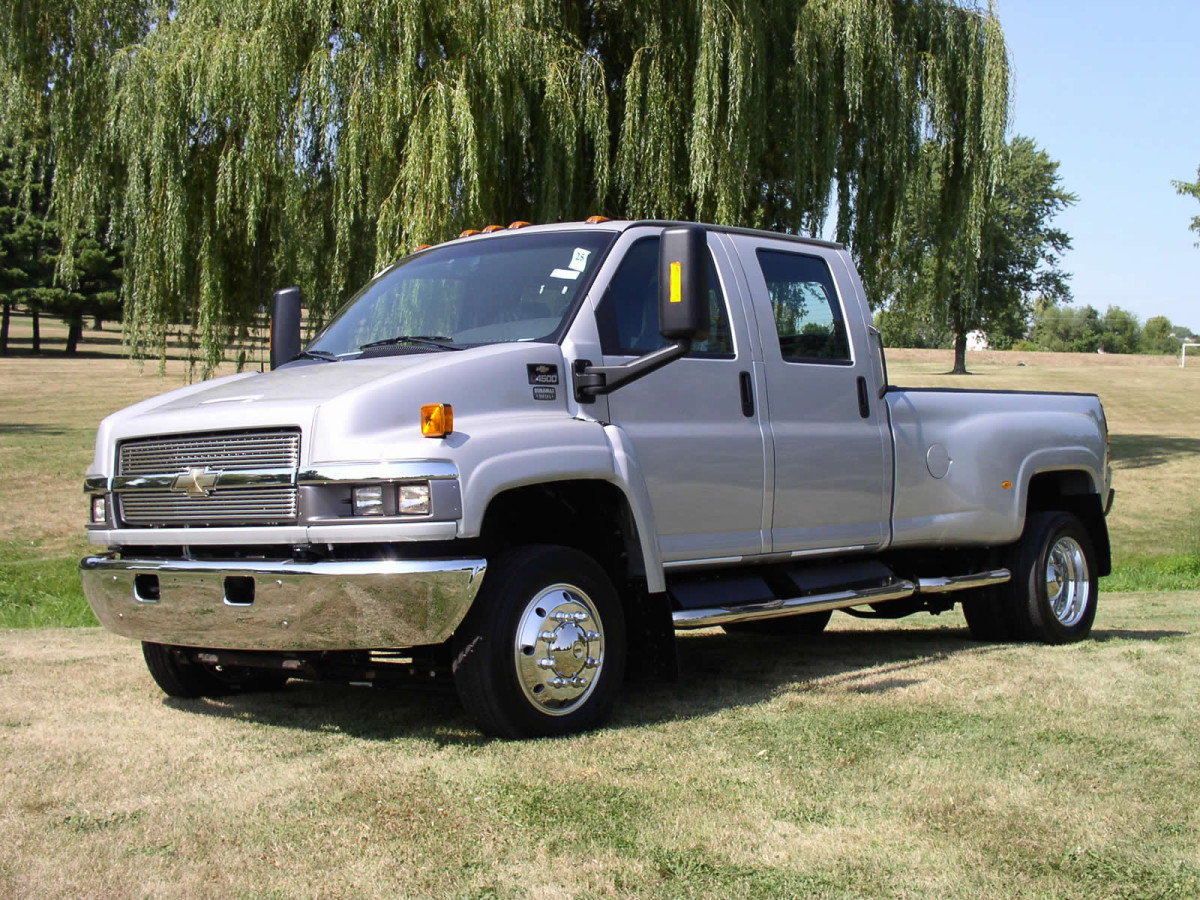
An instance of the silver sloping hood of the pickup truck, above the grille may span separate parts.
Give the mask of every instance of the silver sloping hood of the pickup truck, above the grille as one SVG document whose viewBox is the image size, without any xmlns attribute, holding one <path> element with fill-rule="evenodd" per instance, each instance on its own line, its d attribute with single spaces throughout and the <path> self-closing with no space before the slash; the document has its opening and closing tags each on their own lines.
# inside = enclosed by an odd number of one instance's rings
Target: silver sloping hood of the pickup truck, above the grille
<svg viewBox="0 0 1200 900">
<path fill-rule="evenodd" d="M 530 366 L 550 372 L 536 397 Z M 113 450 L 121 440 L 251 428 L 300 428 L 302 466 L 431 458 L 454 442 L 420 434 L 422 404 L 452 404 L 456 432 L 475 416 L 563 415 L 563 373 L 557 344 L 522 342 L 216 378 L 104 419 L 89 474 L 114 474 Z M 556 388 L 552 400 L 546 386 Z"/>
</svg>

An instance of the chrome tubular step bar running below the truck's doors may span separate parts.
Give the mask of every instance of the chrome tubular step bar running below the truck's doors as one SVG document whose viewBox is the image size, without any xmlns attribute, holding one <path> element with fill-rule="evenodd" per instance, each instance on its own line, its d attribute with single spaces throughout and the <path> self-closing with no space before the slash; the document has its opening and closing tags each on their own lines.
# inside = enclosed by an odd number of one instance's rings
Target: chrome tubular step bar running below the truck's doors
<svg viewBox="0 0 1200 900">
<path fill-rule="evenodd" d="M 810 594 L 791 600 L 768 600 L 762 604 L 743 604 L 740 606 L 716 606 L 707 610 L 676 610 L 671 616 L 677 629 L 712 628 L 713 625 L 732 625 L 738 622 L 761 622 L 779 619 L 785 616 L 802 616 L 806 612 L 824 612 L 826 610 L 844 610 L 847 606 L 862 604 L 882 604 L 888 600 L 902 600 L 914 594 L 947 594 L 952 590 L 967 590 L 989 584 L 1003 584 L 1013 577 L 1008 569 L 992 569 L 973 575 L 954 575 L 938 578 L 917 578 L 907 581 L 898 578 L 888 584 L 878 584 L 856 590 L 834 590 L 824 594 Z"/>
</svg>

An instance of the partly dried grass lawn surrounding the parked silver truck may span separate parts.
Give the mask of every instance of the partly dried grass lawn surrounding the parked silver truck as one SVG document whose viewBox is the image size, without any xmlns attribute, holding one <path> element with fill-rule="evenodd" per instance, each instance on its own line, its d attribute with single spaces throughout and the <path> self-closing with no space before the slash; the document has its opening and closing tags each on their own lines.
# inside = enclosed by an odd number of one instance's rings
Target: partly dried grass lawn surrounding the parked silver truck
<svg viewBox="0 0 1200 900">
<path fill-rule="evenodd" d="M 1094 640 L 979 644 L 958 611 L 691 632 L 683 679 L 630 685 L 612 727 L 505 743 L 452 694 L 170 701 L 130 641 L 0 631 L 0 898 L 1200 896 L 1200 366 L 948 365 L 889 354 L 898 384 L 1104 401 Z M 182 380 L 0 359 L 2 625 L 91 622 L 96 422 Z"/>
</svg>

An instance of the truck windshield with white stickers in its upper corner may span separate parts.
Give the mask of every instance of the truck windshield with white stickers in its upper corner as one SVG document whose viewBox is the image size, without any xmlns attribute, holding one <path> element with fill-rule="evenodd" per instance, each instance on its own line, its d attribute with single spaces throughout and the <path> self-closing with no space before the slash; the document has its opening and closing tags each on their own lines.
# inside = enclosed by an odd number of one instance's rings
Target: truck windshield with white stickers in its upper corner
<svg viewBox="0 0 1200 900">
<path fill-rule="evenodd" d="M 544 232 L 436 247 L 362 288 L 307 352 L 341 359 L 371 343 L 430 349 L 551 340 L 613 236 Z"/>
</svg>

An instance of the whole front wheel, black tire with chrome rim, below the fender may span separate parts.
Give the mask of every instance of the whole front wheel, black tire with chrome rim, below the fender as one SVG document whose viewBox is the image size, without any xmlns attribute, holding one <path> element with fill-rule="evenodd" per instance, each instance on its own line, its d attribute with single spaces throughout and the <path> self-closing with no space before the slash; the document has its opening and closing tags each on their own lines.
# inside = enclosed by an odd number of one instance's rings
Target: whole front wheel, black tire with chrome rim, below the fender
<svg viewBox="0 0 1200 900">
<path fill-rule="evenodd" d="M 568 547 L 518 547 L 490 564 L 454 637 L 462 706 L 502 738 L 602 725 L 624 670 L 617 592 L 594 559 Z"/>
</svg>

